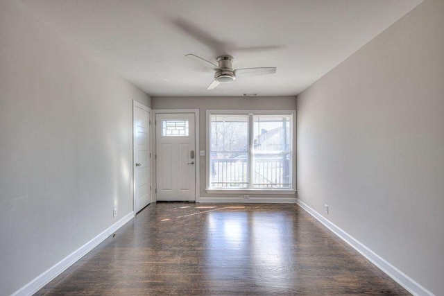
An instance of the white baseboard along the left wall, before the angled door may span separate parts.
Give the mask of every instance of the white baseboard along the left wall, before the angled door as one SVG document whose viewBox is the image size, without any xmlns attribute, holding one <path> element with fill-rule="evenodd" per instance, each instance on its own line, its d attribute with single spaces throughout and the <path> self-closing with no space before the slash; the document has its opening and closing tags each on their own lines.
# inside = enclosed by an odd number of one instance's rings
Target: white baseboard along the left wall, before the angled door
<svg viewBox="0 0 444 296">
<path fill-rule="evenodd" d="M 25 286 L 15 291 L 12 296 L 33 295 L 62 272 L 67 270 L 69 266 L 73 265 L 76 263 L 76 261 L 85 256 L 87 252 L 94 249 L 94 247 L 99 245 L 99 243 L 105 241 L 105 238 L 108 238 L 108 236 L 110 236 L 113 232 L 116 232 L 117 229 L 125 225 L 129 220 L 134 218 L 134 216 L 134 211 L 131 211 L 130 214 L 124 216 L 119 221 L 105 229 L 103 232 L 101 232 L 101 234 L 97 235 L 91 241 L 85 243 L 85 245 L 79 247 L 77 250 L 62 259 L 62 261 L 56 263 L 56 265 L 53 265 L 51 268 L 49 268 L 49 270 L 43 272 L 42 275 L 39 275 Z"/>
</svg>

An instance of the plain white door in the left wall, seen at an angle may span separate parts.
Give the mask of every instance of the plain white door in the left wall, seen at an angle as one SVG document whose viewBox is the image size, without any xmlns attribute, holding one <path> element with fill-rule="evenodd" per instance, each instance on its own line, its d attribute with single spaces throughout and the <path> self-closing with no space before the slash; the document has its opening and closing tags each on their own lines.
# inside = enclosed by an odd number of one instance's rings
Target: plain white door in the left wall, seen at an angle
<svg viewBox="0 0 444 296">
<path fill-rule="evenodd" d="M 151 202 L 151 137 L 148 107 L 134 101 L 134 200 L 137 213 Z"/>
</svg>

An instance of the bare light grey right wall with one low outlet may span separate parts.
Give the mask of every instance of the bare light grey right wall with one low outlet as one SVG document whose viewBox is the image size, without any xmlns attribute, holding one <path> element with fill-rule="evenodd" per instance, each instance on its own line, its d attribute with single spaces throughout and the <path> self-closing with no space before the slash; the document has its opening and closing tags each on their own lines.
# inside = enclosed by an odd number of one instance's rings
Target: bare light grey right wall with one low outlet
<svg viewBox="0 0 444 296">
<path fill-rule="evenodd" d="M 444 295 L 444 1 L 298 96 L 298 198 Z"/>
</svg>

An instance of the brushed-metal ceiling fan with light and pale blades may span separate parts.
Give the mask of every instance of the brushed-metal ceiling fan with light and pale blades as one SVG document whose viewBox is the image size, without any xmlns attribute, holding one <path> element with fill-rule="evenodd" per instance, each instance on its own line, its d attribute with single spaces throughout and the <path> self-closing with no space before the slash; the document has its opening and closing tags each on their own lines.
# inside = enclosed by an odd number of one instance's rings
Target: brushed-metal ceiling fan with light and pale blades
<svg viewBox="0 0 444 296">
<path fill-rule="evenodd" d="M 210 66 L 214 71 L 216 71 L 214 73 L 214 80 L 210 83 L 210 85 L 208 85 L 207 89 L 214 89 L 221 83 L 233 82 L 237 77 L 241 76 L 259 76 L 276 73 L 276 67 L 233 69 L 232 62 L 234 59 L 231 55 L 221 55 L 216 59 L 218 64 L 214 64 L 192 53 L 185 56 L 200 59 L 200 61 L 205 62 L 204 64 L 207 67 Z"/>
</svg>

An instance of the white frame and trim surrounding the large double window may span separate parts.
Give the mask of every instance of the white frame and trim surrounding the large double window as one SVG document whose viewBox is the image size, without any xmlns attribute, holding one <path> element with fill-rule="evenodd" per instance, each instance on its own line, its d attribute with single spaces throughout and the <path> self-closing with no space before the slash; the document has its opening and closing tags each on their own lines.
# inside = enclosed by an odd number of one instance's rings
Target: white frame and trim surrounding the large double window
<svg viewBox="0 0 444 296">
<path fill-rule="evenodd" d="M 253 153 L 253 116 L 254 115 L 289 115 L 291 116 L 291 188 L 287 189 L 262 189 L 262 188 L 213 188 L 210 187 L 210 141 L 211 141 L 211 116 L 212 115 L 248 115 L 248 159 L 250 153 Z M 294 194 L 296 193 L 296 110 L 206 110 L 206 189 L 207 193 L 225 193 L 225 194 Z M 253 166 L 249 167 L 250 169 Z M 250 180 L 249 180 L 250 181 Z"/>
</svg>

